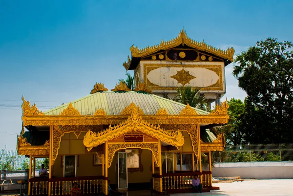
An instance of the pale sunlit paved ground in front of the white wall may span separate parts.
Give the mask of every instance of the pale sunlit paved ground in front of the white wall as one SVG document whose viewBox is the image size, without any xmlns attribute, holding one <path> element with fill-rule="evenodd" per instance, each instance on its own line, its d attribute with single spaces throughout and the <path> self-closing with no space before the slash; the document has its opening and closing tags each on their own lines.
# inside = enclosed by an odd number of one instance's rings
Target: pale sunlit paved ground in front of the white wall
<svg viewBox="0 0 293 196">
<path fill-rule="evenodd" d="M 171 196 L 293 196 L 293 179 L 244 180 L 213 183 L 220 190 L 201 194 L 171 194 Z"/>
</svg>

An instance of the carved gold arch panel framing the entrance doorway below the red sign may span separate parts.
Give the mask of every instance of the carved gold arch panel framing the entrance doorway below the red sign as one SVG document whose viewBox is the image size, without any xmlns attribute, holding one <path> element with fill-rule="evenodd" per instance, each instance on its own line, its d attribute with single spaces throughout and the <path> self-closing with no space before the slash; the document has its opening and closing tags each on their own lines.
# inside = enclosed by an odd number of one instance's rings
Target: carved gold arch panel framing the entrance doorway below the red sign
<svg viewBox="0 0 293 196">
<path fill-rule="evenodd" d="M 154 159 L 159 165 L 159 144 L 158 143 L 109 143 L 108 144 L 108 168 L 111 166 L 114 154 L 119 149 L 141 148 L 148 149 L 152 152 Z"/>
</svg>

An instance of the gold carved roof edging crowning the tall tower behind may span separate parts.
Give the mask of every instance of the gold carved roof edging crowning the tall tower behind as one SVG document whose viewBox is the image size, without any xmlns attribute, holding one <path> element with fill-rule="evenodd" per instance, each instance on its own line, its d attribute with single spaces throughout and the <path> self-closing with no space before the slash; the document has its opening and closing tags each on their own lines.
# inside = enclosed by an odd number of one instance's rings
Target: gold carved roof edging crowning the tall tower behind
<svg viewBox="0 0 293 196">
<path fill-rule="evenodd" d="M 212 47 L 208 44 L 206 44 L 204 41 L 202 42 L 197 42 L 194 40 L 191 40 L 186 32 L 184 31 L 184 29 L 182 29 L 182 31 L 180 31 L 179 35 L 170 41 L 166 41 L 164 42 L 162 40 L 161 44 L 158 45 L 154 45 L 154 46 L 147 46 L 146 48 L 143 49 L 139 49 L 138 47 L 132 45 L 130 47 L 130 51 L 131 51 L 131 55 L 132 57 L 138 57 L 138 58 L 142 58 L 142 57 L 146 57 L 148 55 L 151 55 L 155 52 L 161 51 L 161 50 L 167 50 L 173 47 L 176 47 L 180 44 L 183 45 L 188 45 L 189 47 L 201 50 L 201 51 L 206 51 L 208 53 L 214 54 L 218 57 L 224 58 L 224 59 L 229 59 L 231 62 L 233 62 L 233 55 L 235 50 L 231 47 L 228 48 L 227 50 L 222 50 L 220 48 L 215 48 Z"/>
</svg>

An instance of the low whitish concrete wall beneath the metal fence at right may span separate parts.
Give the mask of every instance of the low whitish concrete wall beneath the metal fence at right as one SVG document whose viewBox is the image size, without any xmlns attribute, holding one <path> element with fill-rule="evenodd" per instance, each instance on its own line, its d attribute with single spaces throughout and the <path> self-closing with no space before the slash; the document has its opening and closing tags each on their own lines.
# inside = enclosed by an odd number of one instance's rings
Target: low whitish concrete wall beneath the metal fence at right
<svg viewBox="0 0 293 196">
<path fill-rule="evenodd" d="M 293 162 L 216 163 L 212 176 L 256 179 L 293 179 Z"/>
</svg>

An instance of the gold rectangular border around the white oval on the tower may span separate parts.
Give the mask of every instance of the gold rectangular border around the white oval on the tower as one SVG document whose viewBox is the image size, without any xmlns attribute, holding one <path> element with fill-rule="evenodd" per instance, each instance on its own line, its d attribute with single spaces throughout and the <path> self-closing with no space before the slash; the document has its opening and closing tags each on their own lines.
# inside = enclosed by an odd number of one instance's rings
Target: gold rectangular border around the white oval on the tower
<svg viewBox="0 0 293 196">
<path fill-rule="evenodd" d="M 150 87 L 152 90 L 176 90 L 177 87 L 160 87 L 158 85 L 155 85 L 153 83 L 151 83 L 148 78 L 147 75 L 149 74 L 150 71 L 158 69 L 160 67 L 180 67 L 182 68 L 183 65 L 181 64 L 144 64 L 143 69 L 144 71 L 144 83 L 146 83 L 146 85 L 148 87 Z M 210 85 L 208 87 L 201 87 L 201 90 L 223 90 L 223 75 L 222 75 L 222 65 L 184 65 L 184 68 L 206 68 L 209 69 L 211 71 L 214 71 L 218 76 L 219 76 L 219 80 L 213 84 Z"/>
</svg>

